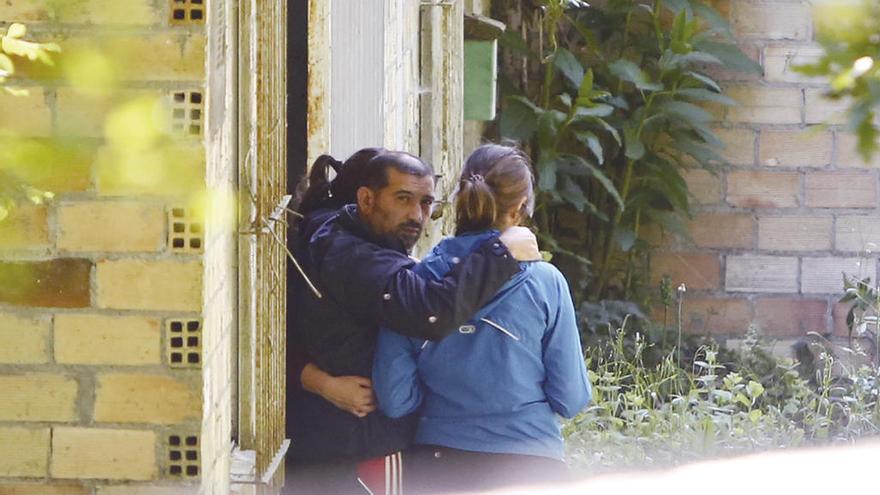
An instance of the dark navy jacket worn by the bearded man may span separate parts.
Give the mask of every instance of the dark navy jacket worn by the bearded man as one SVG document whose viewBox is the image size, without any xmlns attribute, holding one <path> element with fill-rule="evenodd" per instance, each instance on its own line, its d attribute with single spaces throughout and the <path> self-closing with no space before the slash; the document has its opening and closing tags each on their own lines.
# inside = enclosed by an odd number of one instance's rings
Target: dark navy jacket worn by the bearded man
<svg viewBox="0 0 880 495">
<path fill-rule="evenodd" d="M 307 272 L 322 297 L 300 291 L 289 308 L 308 357 L 334 376 L 371 376 L 380 327 L 440 340 L 466 322 L 520 269 L 497 235 L 461 259 L 445 277 L 411 270 L 403 245 L 380 238 L 349 205 L 311 235 Z M 301 254 L 301 258 L 303 257 Z M 289 390 L 290 392 L 291 390 Z M 408 446 L 416 418 L 365 418 L 317 395 L 293 390 L 288 405 L 291 453 L 298 460 L 384 455 Z"/>
</svg>

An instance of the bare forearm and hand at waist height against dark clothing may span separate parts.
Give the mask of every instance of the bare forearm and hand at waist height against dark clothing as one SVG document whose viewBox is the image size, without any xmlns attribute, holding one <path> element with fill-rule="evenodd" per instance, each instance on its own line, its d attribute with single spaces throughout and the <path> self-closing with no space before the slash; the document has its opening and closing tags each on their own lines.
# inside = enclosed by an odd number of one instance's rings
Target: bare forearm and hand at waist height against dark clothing
<svg viewBox="0 0 880 495">
<path fill-rule="evenodd" d="M 334 406 L 359 418 L 376 410 L 373 382 L 362 376 L 331 376 L 313 363 L 300 377 L 304 390 L 318 394 Z"/>
</svg>

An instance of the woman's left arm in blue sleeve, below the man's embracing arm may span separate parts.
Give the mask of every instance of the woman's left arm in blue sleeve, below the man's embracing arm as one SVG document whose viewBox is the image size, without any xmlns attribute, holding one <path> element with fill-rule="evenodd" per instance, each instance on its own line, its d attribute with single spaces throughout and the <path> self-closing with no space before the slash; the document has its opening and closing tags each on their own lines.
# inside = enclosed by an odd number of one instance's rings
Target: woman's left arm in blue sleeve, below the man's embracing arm
<svg viewBox="0 0 880 495">
<path fill-rule="evenodd" d="M 413 341 L 391 330 L 379 331 L 373 360 L 373 385 L 382 414 L 399 418 L 422 404 L 418 351 Z"/>
</svg>

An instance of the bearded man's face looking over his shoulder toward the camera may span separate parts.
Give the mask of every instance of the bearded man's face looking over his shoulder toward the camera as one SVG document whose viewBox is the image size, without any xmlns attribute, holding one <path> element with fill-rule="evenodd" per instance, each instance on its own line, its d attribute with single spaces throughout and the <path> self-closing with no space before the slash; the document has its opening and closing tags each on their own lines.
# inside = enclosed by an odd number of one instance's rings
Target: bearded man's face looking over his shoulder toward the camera
<svg viewBox="0 0 880 495">
<path fill-rule="evenodd" d="M 399 239 L 412 249 L 431 216 L 434 203 L 434 178 L 416 177 L 388 169 L 388 185 L 378 191 L 367 187 L 358 190 L 361 218 L 373 233 Z"/>
</svg>

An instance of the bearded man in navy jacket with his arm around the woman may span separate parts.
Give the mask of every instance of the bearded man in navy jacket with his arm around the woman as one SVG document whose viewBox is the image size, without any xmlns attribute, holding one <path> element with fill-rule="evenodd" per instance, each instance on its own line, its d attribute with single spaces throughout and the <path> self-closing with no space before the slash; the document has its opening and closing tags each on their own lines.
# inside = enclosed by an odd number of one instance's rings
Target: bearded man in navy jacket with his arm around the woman
<svg viewBox="0 0 880 495">
<path fill-rule="evenodd" d="M 370 376 L 380 327 L 442 339 L 519 271 L 516 259 L 539 258 L 534 236 L 512 230 L 490 238 L 441 280 L 414 274 L 407 253 L 430 217 L 433 170 L 399 152 L 366 167 L 357 205 L 336 212 L 310 238 L 305 264 L 322 297 L 303 294 L 291 308 L 306 354 L 332 376 Z M 288 425 L 294 488 L 357 493 L 355 462 L 407 447 L 415 422 L 378 412 L 358 417 L 303 391 L 291 394 Z"/>
</svg>

